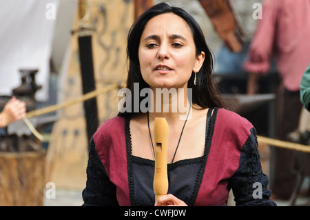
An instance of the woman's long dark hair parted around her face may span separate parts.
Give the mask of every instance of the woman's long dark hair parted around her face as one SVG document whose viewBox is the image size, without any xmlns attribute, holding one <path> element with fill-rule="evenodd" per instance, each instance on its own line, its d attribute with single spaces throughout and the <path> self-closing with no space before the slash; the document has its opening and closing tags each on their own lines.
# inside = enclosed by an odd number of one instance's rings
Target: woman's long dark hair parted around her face
<svg viewBox="0 0 310 220">
<path fill-rule="evenodd" d="M 212 77 L 212 70 L 214 66 L 213 57 L 207 43 L 205 41 L 205 36 L 203 31 L 200 29 L 200 26 L 195 21 L 195 19 L 185 12 L 182 8 L 169 6 L 167 3 L 158 3 L 149 10 L 141 14 L 138 19 L 134 22 L 130 28 L 128 38 L 127 38 L 127 59 L 128 59 L 128 77 L 127 77 L 127 88 L 131 90 L 132 97 L 134 96 L 134 83 L 139 83 L 139 94 L 143 88 L 148 88 L 149 85 L 144 81 L 140 64 L 138 60 L 138 48 L 141 39 L 143 30 L 147 22 L 156 17 L 159 14 L 165 13 L 174 13 L 184 19 L 189 28 L 192 30 L 194 43 L 196 46 L 196 55 L 200 54 L 201 51 L 205 52 L 205 61 L 203 66 L 197 72 L 196 79 L 197 83 L 194 85 L 194 73 L 188 81 L 187 88 L 192 88 L 192 103 L 196 103 L 202 108 L 225 108 L 225 104 L 220 97 L 220 92 L 214 83 Z M 136 97 L 140 97 L 139 95 Z M 139 104 L 143 100 L 143 97 L 140 97 Z M 140 112 L 134 112 L 134 100 L 132 99 L 132 112 L 119 112 L 118 115 L 125 116 L 127 114 L 137 114 Z"/>
</svg>

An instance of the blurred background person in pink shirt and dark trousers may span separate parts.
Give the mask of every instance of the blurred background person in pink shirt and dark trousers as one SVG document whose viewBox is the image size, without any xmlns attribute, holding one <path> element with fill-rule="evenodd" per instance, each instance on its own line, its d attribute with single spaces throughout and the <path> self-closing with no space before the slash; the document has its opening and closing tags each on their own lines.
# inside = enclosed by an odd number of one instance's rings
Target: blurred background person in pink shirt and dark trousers
<svg viewBox="0 0 310 220">
<path fill-rule="evenodd" d="M 262 19 L 249 46 L 244 68 L 249 72 L 247 93 L 258 92 L 260 74 L 267 74 L 276 57 L 280 86 L 276 100 L 275 134 L 289 141 L 288 134 L 298 128 L 302 104 L 300 80 L 310 62 L 310 0 L 265 0 Z M 295 175 L 290 172 L 291 150 L 274 148 L 271 189 L 278 199 L 289 199 Z"/>
</svg>

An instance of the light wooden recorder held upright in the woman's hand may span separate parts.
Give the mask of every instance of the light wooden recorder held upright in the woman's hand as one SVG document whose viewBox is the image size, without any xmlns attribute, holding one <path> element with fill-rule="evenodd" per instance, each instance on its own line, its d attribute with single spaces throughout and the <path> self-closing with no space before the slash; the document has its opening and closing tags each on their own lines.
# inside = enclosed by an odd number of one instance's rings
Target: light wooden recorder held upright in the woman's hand
<svg viewBox="0 0 310 220">
<path fill-rule="evenodd" d="M 168 192 L 167 151 L 169 126 L 165 118 L 156 117 L 154 121 L 155 170 L 154 194 L 155 201 Z M 165 206 L 165 204 L 163 205 Z"/>
</svg>

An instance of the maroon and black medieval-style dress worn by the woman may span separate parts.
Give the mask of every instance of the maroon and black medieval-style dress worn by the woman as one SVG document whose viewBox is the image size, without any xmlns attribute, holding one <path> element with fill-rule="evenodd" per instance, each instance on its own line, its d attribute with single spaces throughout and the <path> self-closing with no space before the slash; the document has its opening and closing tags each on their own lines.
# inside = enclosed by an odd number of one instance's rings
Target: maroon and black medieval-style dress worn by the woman
<svg viewBox="0 0 310 220">
<path fill-rule="evenodd" d="M 208 111 L 211 112 L 211 111 Z M 169 189 L 189 206 L 276 206 L 262 172 L 255 128 L 234 112 L 206 115 L 202 157 L 167 165 Z M 83 206 L 154 206 L 154 161 L 132 155 L 130 118 L 105 121 L 90 141 Z"/>
</svg>

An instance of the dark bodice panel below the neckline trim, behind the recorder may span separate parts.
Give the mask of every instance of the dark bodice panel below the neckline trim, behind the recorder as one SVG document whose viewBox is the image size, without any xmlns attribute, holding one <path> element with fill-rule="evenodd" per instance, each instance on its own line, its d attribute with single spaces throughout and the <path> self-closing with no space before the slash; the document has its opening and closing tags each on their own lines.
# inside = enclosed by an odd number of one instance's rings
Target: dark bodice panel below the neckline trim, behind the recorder
<svg viewBox="0 0 310 220">
<path fill-rule="evenodd" d="M 186 159 L 168 164 L 168 193 L 189 203 L 194 192 L 195 180 L 203 157 Z M 134 206 L 154 206 L 154 161 L 132 156 Z"/>
</svg>

